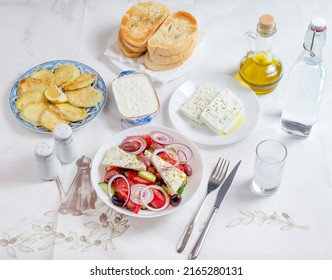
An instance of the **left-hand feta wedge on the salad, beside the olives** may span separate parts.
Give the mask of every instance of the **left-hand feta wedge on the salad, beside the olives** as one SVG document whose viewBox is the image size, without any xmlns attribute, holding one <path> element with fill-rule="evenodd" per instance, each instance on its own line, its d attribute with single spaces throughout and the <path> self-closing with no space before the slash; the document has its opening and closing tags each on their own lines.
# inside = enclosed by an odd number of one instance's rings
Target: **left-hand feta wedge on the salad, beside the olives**
<svg viewBox="0 0 332 280">
<path fill-rule="evenodd" d="M 146 170 L 145 165 L 137 159 L 137 156 L 127 153 L 119 147 L 111 147 L 103 159 L 102 164 L 138 171 Z"/>
</svg>

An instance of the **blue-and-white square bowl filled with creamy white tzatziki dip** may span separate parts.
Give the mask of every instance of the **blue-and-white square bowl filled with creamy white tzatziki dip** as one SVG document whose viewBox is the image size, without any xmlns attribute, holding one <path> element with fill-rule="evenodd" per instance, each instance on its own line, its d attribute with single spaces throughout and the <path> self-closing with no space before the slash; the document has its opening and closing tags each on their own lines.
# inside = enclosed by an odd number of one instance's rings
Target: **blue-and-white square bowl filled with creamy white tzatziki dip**
<svg viewBox="0 0 332 280">
<path fill-rule="evenodd" d="M 121 72 L 112 82 L 112 91 L 121 119 L 128 124 L 149 123 L 159 112 L 157 91 L 145 73 Z"/>
</svg>

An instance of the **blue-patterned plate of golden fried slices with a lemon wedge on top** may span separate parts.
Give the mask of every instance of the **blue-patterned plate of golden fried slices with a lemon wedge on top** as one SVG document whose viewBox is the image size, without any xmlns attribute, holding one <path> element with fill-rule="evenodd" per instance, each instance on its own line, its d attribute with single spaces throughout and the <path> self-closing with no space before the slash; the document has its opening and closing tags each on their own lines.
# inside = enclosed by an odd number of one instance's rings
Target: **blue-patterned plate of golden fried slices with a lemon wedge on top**
<svg viewBox="0 0 332 280">
<path fill-rule="evenodd" d="M 25 72 L 14 84 L 10 108 L 25 127 L 52 133 L 66 123 L 76 130 L 94 119 L 106 103 L 106 86 L 91 67 L 72 60 L 54 60 Z"/>
</svg>

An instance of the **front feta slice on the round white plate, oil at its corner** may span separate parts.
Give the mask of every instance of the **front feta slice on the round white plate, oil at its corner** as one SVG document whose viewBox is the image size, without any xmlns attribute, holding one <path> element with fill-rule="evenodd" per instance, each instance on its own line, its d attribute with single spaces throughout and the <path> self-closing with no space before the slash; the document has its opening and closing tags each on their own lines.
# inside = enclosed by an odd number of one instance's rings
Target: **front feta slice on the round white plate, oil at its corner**
<svg viewBox="0 0 332 280">
<path fill-rule="evenodd" d="M 225 88 L 203 110 L 200 119 L 216 134 L 223 135 L 241 124 L 243 110 L 243 102 Z"/>
</svg>

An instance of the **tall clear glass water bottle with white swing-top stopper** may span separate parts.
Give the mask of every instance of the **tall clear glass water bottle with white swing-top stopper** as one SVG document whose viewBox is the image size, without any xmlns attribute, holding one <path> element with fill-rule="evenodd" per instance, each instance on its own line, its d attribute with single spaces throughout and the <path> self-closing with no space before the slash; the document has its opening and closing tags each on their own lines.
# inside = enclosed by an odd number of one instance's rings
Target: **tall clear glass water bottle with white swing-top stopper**
<svg viewBox="0 0 332 280">
<path fill-rule="evenodd" d="M 286 86 L 281 128 L 292 135 L 308 137 L 317 121 L 325 80 L 325 42 L 326 20 L 313 18 L 304 37 L 304 50 L 292 66 Z"/>
</svg>

